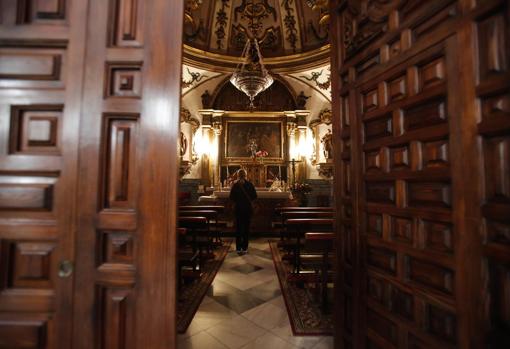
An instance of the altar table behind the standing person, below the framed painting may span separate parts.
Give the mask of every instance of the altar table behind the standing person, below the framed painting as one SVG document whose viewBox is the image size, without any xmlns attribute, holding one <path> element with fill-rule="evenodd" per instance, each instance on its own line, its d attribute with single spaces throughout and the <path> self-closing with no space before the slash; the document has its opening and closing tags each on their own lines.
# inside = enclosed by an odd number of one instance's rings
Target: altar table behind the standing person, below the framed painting
<svg viewBox="0 0 510 349">
<path fill-rule="evenodd" d="M 288 191 L 269 191 L 267 188 L 256 188 L 257 199 L 253 202 L 253 218 L 251 231 L 253 233 L 268 233 L 272 229 L 274 211 L 276 207 L 288 205 L 292 195 Z M 234 221 L 233 203 L 229 200 L 230 188 L 214 191 L 212 195 L 200 196 L 201 204 L 225 206 L 224 218 Z"/>
</svg>

